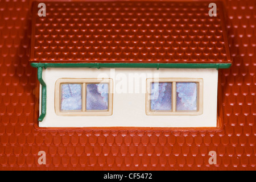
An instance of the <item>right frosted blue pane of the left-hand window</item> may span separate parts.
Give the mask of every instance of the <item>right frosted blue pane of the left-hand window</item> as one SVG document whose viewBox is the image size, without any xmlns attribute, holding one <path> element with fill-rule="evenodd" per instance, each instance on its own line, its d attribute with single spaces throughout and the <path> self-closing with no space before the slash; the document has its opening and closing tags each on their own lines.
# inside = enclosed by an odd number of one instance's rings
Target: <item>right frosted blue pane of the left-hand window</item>
<svg viewBox="0 0 256 182">
<path fill-rule="evenodd" d="M 106 110 L 109 106 L 109 84 L 86 85 L 86 110 Z"/>
</svg>

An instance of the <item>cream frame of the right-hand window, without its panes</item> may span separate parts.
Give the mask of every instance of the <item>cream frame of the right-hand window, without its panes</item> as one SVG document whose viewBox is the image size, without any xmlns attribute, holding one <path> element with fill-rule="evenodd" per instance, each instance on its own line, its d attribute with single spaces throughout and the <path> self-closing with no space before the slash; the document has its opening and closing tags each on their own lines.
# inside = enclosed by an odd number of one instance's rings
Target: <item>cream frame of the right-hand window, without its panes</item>
<svg viewBox="0 0 256 182">
<path fill-rule="evenodd" d="M 151 110 L 150 92 L 152 82 L 171 82 L 171 110 Z M 176 110 L 177 92 L 176 82 L 196 82 L 197 84 L 197 110 L 196 111 L 179 111 Z M 146 80 L 146 115 L 201 115 L 203 114 L 203 78 L 147 78 Z"/>
</svg>

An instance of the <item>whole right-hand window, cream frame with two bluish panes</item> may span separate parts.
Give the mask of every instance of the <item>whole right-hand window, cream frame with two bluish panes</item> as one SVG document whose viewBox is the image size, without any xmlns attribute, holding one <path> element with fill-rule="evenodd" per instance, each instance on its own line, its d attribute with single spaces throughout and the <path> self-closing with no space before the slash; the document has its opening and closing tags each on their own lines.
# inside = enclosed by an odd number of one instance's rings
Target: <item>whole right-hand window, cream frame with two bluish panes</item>
<svg viewBox="0 0 256 182">
<path fill-rule="evenodd" d="M 147 78 L 147 115 L 200 115 L 202 113 L 202 78 Z"/>
</svg>

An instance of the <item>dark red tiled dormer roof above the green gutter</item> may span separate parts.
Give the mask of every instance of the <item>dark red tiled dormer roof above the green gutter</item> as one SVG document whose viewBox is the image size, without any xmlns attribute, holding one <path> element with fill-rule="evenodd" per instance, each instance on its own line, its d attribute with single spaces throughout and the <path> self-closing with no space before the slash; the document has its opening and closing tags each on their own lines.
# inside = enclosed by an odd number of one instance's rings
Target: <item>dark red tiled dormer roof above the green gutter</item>
<svg viewBox="0 0 256 182">
<path fill-rule="evenodd" d="M 217 2 L 216 2 L 217 3 Z M 209 2 L 34 3 L 31 61 L 231 63 L 222 4 Z"/>
</svg>

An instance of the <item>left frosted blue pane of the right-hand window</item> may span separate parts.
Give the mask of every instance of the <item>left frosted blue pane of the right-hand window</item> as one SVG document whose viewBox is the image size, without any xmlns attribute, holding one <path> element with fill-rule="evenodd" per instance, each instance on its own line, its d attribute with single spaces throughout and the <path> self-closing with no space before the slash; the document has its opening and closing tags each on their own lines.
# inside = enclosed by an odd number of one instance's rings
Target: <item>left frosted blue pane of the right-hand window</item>
<svg viewBox="0 0 256 182">
<path fill-rule="evenodd" d="M 151 110 L 172 109 L 172 83 L 152 82 L 150 94 Z"/>
</svg>

